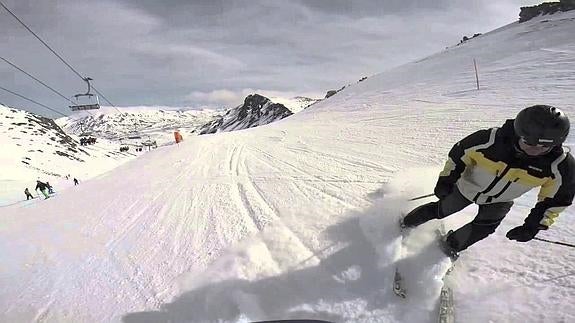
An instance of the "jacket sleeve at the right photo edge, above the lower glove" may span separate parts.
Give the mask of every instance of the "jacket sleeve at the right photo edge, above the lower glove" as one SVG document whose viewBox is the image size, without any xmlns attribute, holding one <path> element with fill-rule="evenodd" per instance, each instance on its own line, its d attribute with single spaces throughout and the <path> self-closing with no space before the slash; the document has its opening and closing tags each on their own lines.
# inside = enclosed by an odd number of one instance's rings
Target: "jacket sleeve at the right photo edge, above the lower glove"
<svg viewBox="0 0 575 323">
<path fill-rule="evenodd" d="M 551 166 L 553 176 L 539 191 L 538 202 L 525 219 L 525 225 L 547 229 L 575 196 L 575 160 L 566 153 Z"/>
</svg>

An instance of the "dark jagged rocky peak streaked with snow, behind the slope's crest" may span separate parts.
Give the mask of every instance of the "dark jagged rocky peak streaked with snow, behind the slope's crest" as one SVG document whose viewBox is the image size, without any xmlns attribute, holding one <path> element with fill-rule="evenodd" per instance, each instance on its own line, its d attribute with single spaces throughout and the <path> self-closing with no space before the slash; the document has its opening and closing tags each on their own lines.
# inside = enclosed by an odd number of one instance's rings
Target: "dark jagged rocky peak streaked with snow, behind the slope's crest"
<svg viewBox="0 0 575 323">
<path fill-rule="evenodd" d="M 292 114 L 293 112 L 283 104 L 273 103 L 259 94 L 251 94 L 245 98 L 243 104 L 228 110 L 225 115 L 204 125 L 199 134 L 253 128 L 281 120 Z"/>
</svg>

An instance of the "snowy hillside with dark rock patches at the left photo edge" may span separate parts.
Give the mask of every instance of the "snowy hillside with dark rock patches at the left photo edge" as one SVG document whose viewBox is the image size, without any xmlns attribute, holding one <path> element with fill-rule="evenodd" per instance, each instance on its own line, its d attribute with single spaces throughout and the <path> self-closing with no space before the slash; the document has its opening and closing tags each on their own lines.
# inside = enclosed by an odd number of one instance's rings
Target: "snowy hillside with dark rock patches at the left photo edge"
<svg viewBox="0 0 575 323">
<path fill-rule="evenodd" d="M 85 180 L 136 156 L 119 152 L 118 145 L 107 140 L 81 146 L 78 137 L 66 134 L 54 120 L 3 105 L 0 147 L 0 205 L 20 200 L 37 178 L 58 189 L 68 174 Z"/>
</svg>

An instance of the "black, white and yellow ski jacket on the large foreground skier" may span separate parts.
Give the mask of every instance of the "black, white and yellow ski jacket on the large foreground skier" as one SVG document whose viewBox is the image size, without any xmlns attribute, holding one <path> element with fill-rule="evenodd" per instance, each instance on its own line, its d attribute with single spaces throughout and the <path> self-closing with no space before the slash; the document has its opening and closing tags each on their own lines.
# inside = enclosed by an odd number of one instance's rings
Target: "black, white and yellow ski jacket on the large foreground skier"
<svg viewBox="0 0 575 323">
<path fill-rule="evenodd" d="M 437 185 L 457 185 L 476 204 L 513 201 L 540 187 L 538 202 L 525 223 L 549 227 L 573 201 L 575 160 L 561 146 L 543 156 L 527 157 L 519 152 L 518 141 L 513 120 L 467 136 L 449 152 Z"/>
</svg>

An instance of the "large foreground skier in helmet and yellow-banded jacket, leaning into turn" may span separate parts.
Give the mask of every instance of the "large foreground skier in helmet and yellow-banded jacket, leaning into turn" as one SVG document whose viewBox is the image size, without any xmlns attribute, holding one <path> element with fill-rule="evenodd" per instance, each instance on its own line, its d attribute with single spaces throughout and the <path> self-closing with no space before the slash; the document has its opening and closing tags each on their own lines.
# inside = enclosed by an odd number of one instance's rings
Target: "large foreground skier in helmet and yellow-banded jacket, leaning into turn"
<svg viewBox="0 0 575 323">
<path fill-rule="evenodd" d="M 561 110 L 535 105 L 501 128 L 472 133 L 449 152 L 434 190 L 439 201 L 412 210 L 402 226 L 415 227 L 478 204 L 475 219 L 450 233 L 444 243 L 444 251 L 456 258 L 458 252 L 495 231 L 514 199 L 541 187 L 524 224 L 507 232 L 510 240 L 533 239 L 555 222 L 575 195 L 575 160 L 562 147 L 569 126 Z"/>
</svg>

